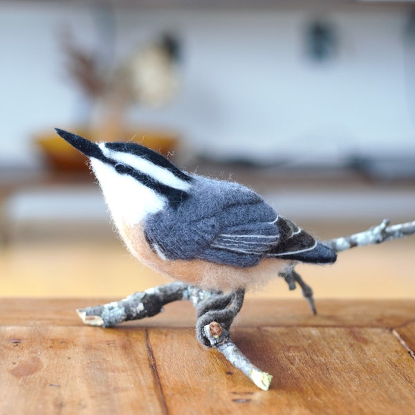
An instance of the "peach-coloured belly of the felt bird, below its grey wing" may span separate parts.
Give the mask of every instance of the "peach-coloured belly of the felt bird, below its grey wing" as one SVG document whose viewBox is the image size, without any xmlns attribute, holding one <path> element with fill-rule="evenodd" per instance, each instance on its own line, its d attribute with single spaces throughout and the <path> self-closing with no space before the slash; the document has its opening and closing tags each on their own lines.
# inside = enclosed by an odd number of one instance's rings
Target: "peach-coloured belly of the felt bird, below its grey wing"
<svg viewBox="0 0 415 415">
<path fill-rule="evenodd" d="M 169 261 L 161 259 L 149 247 L 142 227 L 122 223 L 118 230 L 131 254 L 149 267 L 173 279 L 207 289 L 230 290 L 239 287 L 257 287 L 277 277 L 290 261 L 263 259 L 257 266 L 238 268 L 193 259 Z"/>
</svg>

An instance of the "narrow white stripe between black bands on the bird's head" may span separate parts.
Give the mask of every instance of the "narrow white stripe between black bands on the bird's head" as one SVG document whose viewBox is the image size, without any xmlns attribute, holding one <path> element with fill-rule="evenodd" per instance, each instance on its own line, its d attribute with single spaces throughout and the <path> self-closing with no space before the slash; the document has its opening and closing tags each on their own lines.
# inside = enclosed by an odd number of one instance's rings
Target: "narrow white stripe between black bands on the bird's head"
<svg viewBox="0 0 415 415">
<path fill-rule="evenodd" d="M 139 172 L 148 174 L 148 176 L 154 178 L 156 181 L 160 183 L 163 183 L 163 185 L 174 187 L 178 190 L 190 189 L 190 183 L 181 180 L 169 170 L 163 169 L 163 167 L 160 167 L 158 165 L 154 165 L 153 163 L 151 163 L 151 161 L 146 160 L 145 158 L 141 158 L 130 153 L 123 153 L 122 151 L 108 149 L 107 147 L 105 147 L 105 143 L 103 142 L 100 143 L 100 149 L 102 149 L 102 153 L 104 153 L 104 155 L 108 158 L 111 158 L 125 165 L 129 165 L 134 169 L 138 170 Z"/>
</svg>

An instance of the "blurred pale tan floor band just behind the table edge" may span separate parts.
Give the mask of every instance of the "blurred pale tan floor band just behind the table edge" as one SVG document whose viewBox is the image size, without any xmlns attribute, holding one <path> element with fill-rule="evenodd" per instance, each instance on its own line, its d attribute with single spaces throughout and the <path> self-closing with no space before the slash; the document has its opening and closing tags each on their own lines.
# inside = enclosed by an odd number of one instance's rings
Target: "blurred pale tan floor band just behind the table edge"
<svg viewBox="0 0 415 415">
<path fill-rule="evenodd" d="M 347 224 L 313 228 L 322 238 L 364 230 Z M 333 266 L 301 266 L 319 298 L 414 298 L 415 236 L 340 253 Z M 115 235 L 12 241 L 0 248 L 0 297 L 114 297 L 168 282 L 133 259 Z M 281 279 L 255 297 L 299 298 Z"/>
</svg>

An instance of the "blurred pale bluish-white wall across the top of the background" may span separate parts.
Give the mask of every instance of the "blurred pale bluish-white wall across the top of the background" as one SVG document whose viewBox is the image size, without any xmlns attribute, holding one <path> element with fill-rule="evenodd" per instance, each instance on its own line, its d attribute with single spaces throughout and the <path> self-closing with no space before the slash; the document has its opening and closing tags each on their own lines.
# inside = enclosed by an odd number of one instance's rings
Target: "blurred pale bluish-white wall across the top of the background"
<svg viewBox="0 0 415 415">
<path fill-rule="evenodd" d="M 329 3 L 326 3 L 329 4 Z M 161 110 L 134 108 L 131 122 L 183 131 L 218 156 L 319 160 L 415 154 L 415 44 L 405 8 L 118 8 L 116 57 L 165 30 L 183 42 L 182 89 Z M 323 17 L 337 29 L 331 62 L 312 62 L 304 28 Z M 70 3 L 0 3 L 0 160 L 33 158 L 40 129 L 82 118 L 57 34 L 68 26 L 100 46 L 97 15 Z"/>
</svg>

